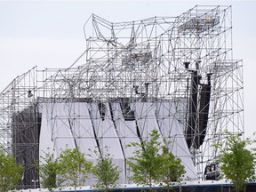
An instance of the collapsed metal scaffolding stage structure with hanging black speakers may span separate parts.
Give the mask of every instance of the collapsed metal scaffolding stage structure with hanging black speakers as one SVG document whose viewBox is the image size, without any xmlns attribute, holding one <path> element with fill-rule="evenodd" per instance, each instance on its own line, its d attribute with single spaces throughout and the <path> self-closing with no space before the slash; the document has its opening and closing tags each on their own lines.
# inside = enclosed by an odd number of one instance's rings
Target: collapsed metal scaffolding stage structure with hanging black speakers
<svg viewBox="0 0 256 192">
<path fill-rule="evenodd" d="M 54 122 L 62 131 L 72 131 L 74 124 L 86 132 L 93 127 L 84 138 L 87 133 L 76 137 L 73 130 L 75 141 L 68 134 L 59 143 L 49 139 L 52 146 L 44 149 L 67 142 L 82 148 L 86 140 L 100 148 L 119 142 L 115 150 L 123 155 L 113 151 L 114 159 L 131 156 L 124 145 L 147 139 L 156 128 L 172 142 L 173 135 L 186 140 L 182 156 L 191 158 L 197 179 L 204 177 L 206 164 L 216 161 L 218 148 L 212 144 L 227 139 L 225 130 L 244 133 L 243 63 L 233 59 L 230 6 L 195 6 L 177 17 L 129 22 L 92 14 L 84 36 L 86 50 L 69 68 L 32 68 L 0 93 L 0 142 L 25 164 L 25 188 L 38 179 L 33 164 L 41 153 L 43 124 Z M 84 115 L 80 105 L 88 108 Z M 111 144 L 104 137 L 117 140 Z"/>
</svg>

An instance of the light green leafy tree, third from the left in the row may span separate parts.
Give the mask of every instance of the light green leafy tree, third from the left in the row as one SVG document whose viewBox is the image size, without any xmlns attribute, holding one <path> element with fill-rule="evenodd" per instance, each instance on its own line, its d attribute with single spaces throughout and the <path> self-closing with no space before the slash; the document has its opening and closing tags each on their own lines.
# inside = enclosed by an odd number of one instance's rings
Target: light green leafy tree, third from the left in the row
<svg viewBox="0 0 256 192">
<path fill-rule="evenodd" d="M 59 177 L 76 190 L 78 186 L 83 185 L 87 174 L 92 171 L 92 162 L 86 161 L 79 148 L 67 148 L 60 153 L 58 167 Z"/>
</svg>

